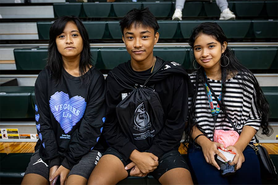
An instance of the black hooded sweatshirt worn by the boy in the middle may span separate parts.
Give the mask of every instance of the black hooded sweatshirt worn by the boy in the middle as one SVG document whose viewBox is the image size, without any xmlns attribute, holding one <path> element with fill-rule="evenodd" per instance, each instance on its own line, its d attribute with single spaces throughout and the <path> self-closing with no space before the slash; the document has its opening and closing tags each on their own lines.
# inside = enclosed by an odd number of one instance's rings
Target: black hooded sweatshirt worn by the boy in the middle
<svg viewBox="0 0 278 185">
<path fill-rule="evenodd" d="M 146 86 L 154 87 L 154 91 L 158 93 L 165 118 L 163 123 L 152 125 L 157 134 L 143 138 L 148 140 L 147 142 L 140 139 L 140 134 L 138 134 L 137 130 L 132 131 L 133 128 L 131 127 L 136 127 L 135 125 L 119 121 L 116 114 L 116 106 L 132 91 L 132 89 L 124 88 L 119 82 L 124 82 L 125 86 L 132 87 L 135 84 L 143 85 L 152 74 L 151 68 L 146 71 L 136 72 L 131 68 L 129 60 L 114 68 L 106 77 L 105 98 L 107 111 L 106 121 L 103 126 L 103 136 L 111 147 L 123 155 L 125 160 L 128 160 L 135 149 L 140 152 L 150 152 L 160 157 L 165 152 L 179 147 L 179 142 L 186 126 L 188 93 L 192 93 L 189 76 L 180 64 L 173 61 L 165 63 L 159 57 L 156 58 L 155 69 L 158 72 L 150 78 Z M 159 68 L 159 65 L 162 67 Z M 115 76 L 118 79 L 115 79 Z M 119 78 L 121 79 L 120 81 Z M 130 111 L 134 112 L 135 110 Z M 138 135 L 139 139 L 134 139 L 136 138 L 134 137 L 135 134 Z"/>
</svg>

